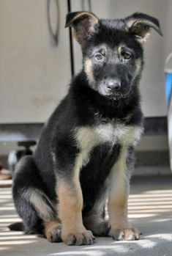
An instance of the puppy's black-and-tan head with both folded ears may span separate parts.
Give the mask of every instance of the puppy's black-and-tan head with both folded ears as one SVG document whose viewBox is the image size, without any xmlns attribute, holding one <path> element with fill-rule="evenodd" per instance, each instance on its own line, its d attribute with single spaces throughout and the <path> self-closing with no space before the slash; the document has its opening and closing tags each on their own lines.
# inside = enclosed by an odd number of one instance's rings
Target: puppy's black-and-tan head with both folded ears
<svg viewBox="0 0 172 256">
<path fill-rule="evenodd" d="M 138 12 L 118 20 L 100 20 L 92 12 L 71 12 L 66 26 L 72 26 L 81 45 L 89 86 L 114 100 L 130 95 L 140 78 L 142 45 L 151 29 L 162 35 L 156 18 Z"/>
</svg>

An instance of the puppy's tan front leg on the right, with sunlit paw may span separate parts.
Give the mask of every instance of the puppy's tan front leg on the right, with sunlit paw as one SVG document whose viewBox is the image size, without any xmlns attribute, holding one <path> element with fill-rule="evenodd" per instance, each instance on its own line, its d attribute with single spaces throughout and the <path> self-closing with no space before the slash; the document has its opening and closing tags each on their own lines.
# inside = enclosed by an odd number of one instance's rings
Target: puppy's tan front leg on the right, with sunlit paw
<svg viewBox="0 0 172 256">
<path fill-rule="evenodd" d="M 111 172 L 108 199 L 108 213 L 111 224 L 109 235 L 115 240 L 138 240 L 140 238 L 140 232 L 130 226 L 127 216 L 127 197 L 130 186 L 128 176 L 127 149 L 123 149 Z"/>
</svg>

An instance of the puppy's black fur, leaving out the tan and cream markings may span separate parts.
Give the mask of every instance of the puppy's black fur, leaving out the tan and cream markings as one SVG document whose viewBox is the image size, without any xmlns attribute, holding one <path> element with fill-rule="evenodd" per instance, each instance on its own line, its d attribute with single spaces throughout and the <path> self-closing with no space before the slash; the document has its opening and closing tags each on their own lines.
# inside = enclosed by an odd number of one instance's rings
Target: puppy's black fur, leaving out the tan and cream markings
<svg viewBox="0 0 172 256">
<path fill-rule="evenodd" d="M 80 21 L 76 19 L 75 22 L 72 22 L 77 14 L 78 12 L 67 16 L 67 26 L 74 24 L 75 31 L 79 33 L 78 22 L 83 22 L 86 14 Z M 135 37 L 135 33 L 133 34 L 133 28 L 132 33 L 130 32 L 131 28 L 127 27 L 127 22 L 131 21 L 132 18 L 144 20 L 148 16 L 142 14 L 136 16 L 133 15 L 133 17 L 130 16 L 130 18 L 123 20 L 97 20 L 94 33 L 89 32 L 88 27 L 86 27 L 87 34 L 81 41 L 83 69 L 78 76 L 73 78 L 67 96 L 45 124 L 34 156 L 24 157 L 16 169 L 12 191 L 15 207 L 23 219 L 26 230 L 42 233 L 43 222 L 34 206 L 22 196 L 22 191 L 26 191 L 27 188 L 40 189 L 51 201 L 53 211 L 53 205 L 58 204 L 56 176 L 70 182 L 73 176 L 75 158 L 81 153 L 75 139 L 75 128 L 93 127 L 110 122 L 142 126 L 143 115 L 138 82 L 143 69 L 143 48 L 138 42 L 138 38 Z M 152 20 L 152 23 L 158 29 L 157 20 Z M 85 26 L 84 23 L 83 26 Z M 143 27 L 143 29 L 145 28 Z M 98 58 L 104 58 L 100 65 L 97 63 L 98 60 L 94 59 L 93 49 L 102 43 L 108 45 L 111 50 L 108 50 L 109 55 L 106 56 L 105 53 L 103 55 L 101 49 L 97 50 L 100 53 Z M 121 56 L 116 50 L 120 44 L 124 44 L 124 52 Z M 128 55 L 124 56 L 124 54 L 128 54 L 128 51 L 132 56 L 129 60 L 124 58 L 128 58 Z M 89 74 L 84 69 L 86 59 L 91 59 L 93 84 L 90 83 Z M 137 59 L 139 59 L 141 67 L 139 72 L 135 74 L 135 61 Z M 105 92 L 107 89 L 105 77 L 107 76 L 112 79 L 116 77 L 120 79 L 120 95 L 116 94 L 116 91 L 111 94 Z M 100 84 L 103 89 L 100 88 Z M 100 89 L 103 93 L 100 92 Z M 111 147 L 107 142 L 97 145 L 91 150 L 89 162 L 85 166 L 83 165 L 80 176 L 84 205 L 83 217 L 88 215 L 100 195 L 104 193 L 105 179 L 119 158 L 121 147 L 120 143 Z M 133 147 L 130 145 L 130 157 L 127 159 L 128 167 L 132 165 L 132 151 Z"/>
</svg>

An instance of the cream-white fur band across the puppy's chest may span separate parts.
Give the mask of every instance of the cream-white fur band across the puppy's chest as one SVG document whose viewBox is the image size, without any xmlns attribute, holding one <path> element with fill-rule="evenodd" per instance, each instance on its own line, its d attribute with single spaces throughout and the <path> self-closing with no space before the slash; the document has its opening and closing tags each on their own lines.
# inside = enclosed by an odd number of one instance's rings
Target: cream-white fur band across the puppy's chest
<svg viewBox="0 0 172 256">
<path fill-rule="evenodd" d="M 113 147 L 135 145 L 140 139 L 142 129 L 139 126 L 124 125 L 120 123 L 107 123 L 96 126 L 87 126 L 77 129 L 76 139 L 78 147 L 87 153 L 97 145 L 108 143 Z"/>
</svg>

